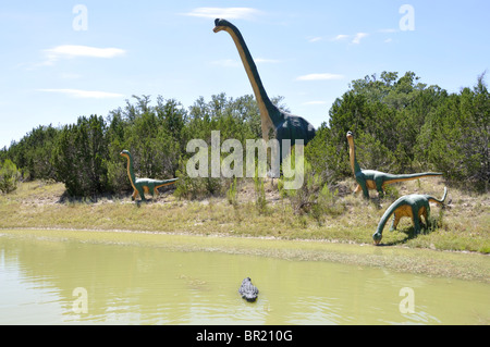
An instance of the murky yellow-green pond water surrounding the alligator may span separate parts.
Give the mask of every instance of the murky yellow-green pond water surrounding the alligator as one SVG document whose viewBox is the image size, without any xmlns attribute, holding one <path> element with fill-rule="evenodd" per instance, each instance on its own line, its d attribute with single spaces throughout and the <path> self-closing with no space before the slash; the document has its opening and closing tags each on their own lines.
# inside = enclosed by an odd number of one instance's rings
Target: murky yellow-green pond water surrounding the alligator
<svg viewBox="0 0 490 347">
<path fill-rule="evenodd" d="M 254 303 L 238 293 L 249 276 Z M 488 324 L 490 285 L 0 233 L 0 324 Z"/>
</svg>

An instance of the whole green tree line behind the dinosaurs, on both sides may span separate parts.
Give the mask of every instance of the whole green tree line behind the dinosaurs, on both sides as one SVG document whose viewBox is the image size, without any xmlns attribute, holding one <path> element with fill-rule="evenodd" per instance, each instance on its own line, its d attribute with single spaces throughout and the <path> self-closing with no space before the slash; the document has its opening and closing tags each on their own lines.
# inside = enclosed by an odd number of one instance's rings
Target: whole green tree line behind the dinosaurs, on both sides
<svg viewBox="0 0 490 347">
<path fill-rule="evenodd" d="M 355 135 L 362 166 L 392 173 L 438 171 L 454 185 L 488 191 L 490 181 L 490 97 L 485 74 L 474 87 L 450 94 L 419 82 L 413 72 L 382 72 L 353 80 L 305 148 L 305 160 L 321 185 L 352 175 L 347 131 Z M 275 103 L 283 98 L 274 98 Z M 279 104 L 285 108 L 284 104 Z M 181 177 L 186 196 L 224 193 L 219 178 L 188 179 L 186 144 L 261 137 L 253 96 L 219 94 L 184 108 L 159 96 L 133 96 L 106 117 L 81 116 L 74 124 L 40 125 L 0 150 L 0 187 L 5 179 L 52 179 L 76 197 L 131 189 L 122 149 L 133 153 L 137 176 Z M 14 172 L 14 173 L 12 173 Z M 226 181 L 228 182 L 228 181 Z M 229 182 L 228 182 L 229 183 Z M 5 191 L 9 189 L 2 189 Z M 12 190 L 12 189 L 10 189 Z"/>
</svg>

